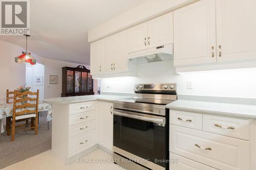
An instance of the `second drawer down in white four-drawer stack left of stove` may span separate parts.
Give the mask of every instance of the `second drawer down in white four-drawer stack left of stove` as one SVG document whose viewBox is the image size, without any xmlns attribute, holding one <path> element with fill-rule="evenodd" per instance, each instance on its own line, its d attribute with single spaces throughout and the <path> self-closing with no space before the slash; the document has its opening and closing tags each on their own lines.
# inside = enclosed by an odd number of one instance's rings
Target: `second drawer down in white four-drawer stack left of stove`
<svg viewBox="0 0 256 170">
<path fill-rule="evenodd" d="M 96 111 L 89 111 L 85 113 L 73 114 L 69 116 L 69 126 L 81 124 L 94 120 L 96 118 Z"/>
</svg>

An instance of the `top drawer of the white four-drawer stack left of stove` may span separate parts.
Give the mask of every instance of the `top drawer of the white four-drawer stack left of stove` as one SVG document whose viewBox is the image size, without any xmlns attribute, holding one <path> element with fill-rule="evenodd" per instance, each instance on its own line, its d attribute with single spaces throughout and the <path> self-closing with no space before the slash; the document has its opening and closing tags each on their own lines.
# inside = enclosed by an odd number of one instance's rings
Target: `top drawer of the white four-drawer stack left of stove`
<svg viewBox="0 0 256 170">
<path fill-rule="evenodd" d="M 70 112 L 69 114 L 76 114 L 87 112 L 96 109 L 96 103 L 93 102 L 84 102 L 84 103 L 76 103 L 70 105 Z"/>
</svg>

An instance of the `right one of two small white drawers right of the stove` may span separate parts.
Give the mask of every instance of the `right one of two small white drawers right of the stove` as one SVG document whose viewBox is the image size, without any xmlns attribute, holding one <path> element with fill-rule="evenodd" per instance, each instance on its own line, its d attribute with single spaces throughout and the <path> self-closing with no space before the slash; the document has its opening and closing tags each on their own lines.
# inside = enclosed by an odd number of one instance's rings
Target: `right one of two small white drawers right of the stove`
<svg viewBox="0 0 256 170">
<path fill-rule="evenodd" d="M 249 140 L 249 120 L 203 115 L 203 131 Z"/>
</svg>

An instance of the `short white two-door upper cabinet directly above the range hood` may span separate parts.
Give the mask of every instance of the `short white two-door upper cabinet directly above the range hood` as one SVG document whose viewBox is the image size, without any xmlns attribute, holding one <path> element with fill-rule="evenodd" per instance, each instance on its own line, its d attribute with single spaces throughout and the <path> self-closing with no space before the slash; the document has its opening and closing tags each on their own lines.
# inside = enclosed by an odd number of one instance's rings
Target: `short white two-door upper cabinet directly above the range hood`
<svg viewBox="0 0 256 170">
<path fill-rule="evenodd" d="M 173 43 L 173 12 L 128 30 L 128 53 Z"/>
</svg>

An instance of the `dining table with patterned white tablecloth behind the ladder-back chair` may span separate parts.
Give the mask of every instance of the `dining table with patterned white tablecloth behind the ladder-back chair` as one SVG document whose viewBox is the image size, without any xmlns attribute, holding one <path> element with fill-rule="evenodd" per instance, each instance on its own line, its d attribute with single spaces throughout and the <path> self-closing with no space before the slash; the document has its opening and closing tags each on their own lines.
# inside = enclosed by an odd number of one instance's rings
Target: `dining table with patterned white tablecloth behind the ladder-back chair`
<svg viewBox="0 0 256 170">
<path fill-rule="evenodd" d="M 22 111 L 25 110 L 25 108 L 23 109 L 16 109 L 16 111 Z M 52 106 L 51 104 L 48 103 L 44 103 L 42 101 L 38 102 L 38 113 L 41 112 L 41 115 L 46 115 L 47 117 L 47 122 L 49 123 L 49 121 L 52 119 Z M 2 133 L 2 128 L 3 128 L 3 124 L 2 124 L 2 120 L 5 117 L 9 117 L 12 116 L 13 113 L 13 104 L 0 104 L 0 139 L 1 139 L 1 133 Z M 39 115 L 39 114 L 38 114 Z"/>
</svg>

